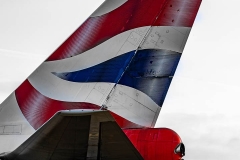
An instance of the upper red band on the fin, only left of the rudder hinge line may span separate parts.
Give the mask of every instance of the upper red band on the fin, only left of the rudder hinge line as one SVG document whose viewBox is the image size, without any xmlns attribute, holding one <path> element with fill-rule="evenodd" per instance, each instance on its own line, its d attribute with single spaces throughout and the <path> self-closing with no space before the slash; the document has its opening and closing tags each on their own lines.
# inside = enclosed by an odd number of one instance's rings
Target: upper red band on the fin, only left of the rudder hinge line
<svg viewBox="0 0 240 160">
<path fill-rule="evenodd" d="M 99 17 L 88 18 L 48 59 L 54 61 L 81 54 L 122 32 L 151 26 L 164 1 L 151 6 L 149 1 L 129 0 Z M 102 6 L 104 7 L 104 5 Z M 149 12 L 151 9 L 151 12 Z M 146 14 L 148 13 L 148 14 Z"/>
</svg>

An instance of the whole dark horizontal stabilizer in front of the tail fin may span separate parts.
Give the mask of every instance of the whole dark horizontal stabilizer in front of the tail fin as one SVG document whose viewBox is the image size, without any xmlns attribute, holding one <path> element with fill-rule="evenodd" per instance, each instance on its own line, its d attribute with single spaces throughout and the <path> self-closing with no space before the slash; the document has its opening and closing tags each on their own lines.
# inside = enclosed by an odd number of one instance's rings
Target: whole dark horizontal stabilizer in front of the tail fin
<svg viewBox="0 0 240 160">
<path fill-rule="evenodd" d="M 109 111 L 56 113 L 1 160 L 143 159 Z"/>
</svg>

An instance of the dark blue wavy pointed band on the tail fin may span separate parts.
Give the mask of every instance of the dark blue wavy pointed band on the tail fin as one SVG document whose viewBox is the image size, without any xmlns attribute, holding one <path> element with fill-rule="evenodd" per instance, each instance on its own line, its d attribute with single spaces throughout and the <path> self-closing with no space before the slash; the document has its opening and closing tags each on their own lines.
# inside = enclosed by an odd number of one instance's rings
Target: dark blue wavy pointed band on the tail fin
<svg viewBox="0 0 240 160">
<path fill-rule="evenodd" d="M 110 82 L 126 85 L 142 91 L 162 106 L 181 54 L 145 49 L 138 51 L 134 58 L 133 55 L 132 51 L 84 70 L 54 75 L 71 82 Z"/>
</svg>

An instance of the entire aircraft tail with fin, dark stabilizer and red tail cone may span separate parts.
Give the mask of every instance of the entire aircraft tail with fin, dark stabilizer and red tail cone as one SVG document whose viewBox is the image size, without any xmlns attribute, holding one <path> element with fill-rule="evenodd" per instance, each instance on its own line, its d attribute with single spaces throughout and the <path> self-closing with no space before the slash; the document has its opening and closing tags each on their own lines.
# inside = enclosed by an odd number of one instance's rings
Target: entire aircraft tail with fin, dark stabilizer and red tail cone
<svg viewBox="0 0 240 160">
<path fill-rule="evenodd" d="M 0 160 L 181 159 L 153 127 L 200 3 L 106 0 L 0 105 Z"/>
</svg>

